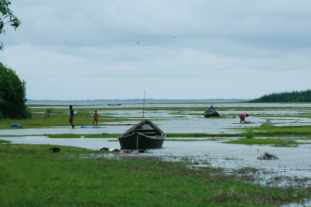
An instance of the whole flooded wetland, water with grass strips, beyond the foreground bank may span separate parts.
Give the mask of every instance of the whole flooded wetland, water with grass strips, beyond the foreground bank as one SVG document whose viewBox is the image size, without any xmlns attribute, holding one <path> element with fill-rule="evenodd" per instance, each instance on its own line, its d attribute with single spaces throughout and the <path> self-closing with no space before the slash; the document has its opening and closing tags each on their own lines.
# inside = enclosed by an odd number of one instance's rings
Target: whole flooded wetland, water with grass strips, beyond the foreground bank
<svg viewBox="0 0 311 207">
<path fill-rule="evenodd" d="M 142 103 L 119 106 L 73 103 L 76 127 L 71 128 L 67 123 L 69 109 L 64 103 L 29 103 L 32 119 L 39 123 L 2 120 L 0 135 L 2 140 L 12 143 L 77 146 L 91 150 L 120 148 L 116 137 L 144 116 L 167 134 L 162 148 L 147 149 L 144 154 L 108 153 L 105 156 L 183 161 L 190 168 L 208 166 L 227 173 L 243 172 L 248 176 L 247 181 L 264 185 L 310 185 L 311 103 L 213 103 L 220 117 L 204 118 L 203 112 L 211 104 L 145 103 L 143 111 Z M 49 116 L 46 115 L 48 108 L 52 110 Z M 98 128 L 80 128 L 92 127 L 94 110 L 100 116 Z M 239 113 L 248 113 L 246 121 L 251 123 L 240 124 Z M 272 123 L 264 124 L 267 119 Z M 21 124 L 23 128 L 9 128 L 10 124 Z M 58 138 L 49 138 L 51 135 Z M 79 138 L 71 138 L 75 135 Z M 94 138 L 87 138 L 88 135 Z M 283 145 L 278 142 L 224 143 L 247 138 L 292 142 Z M 299 144 L 293 145 L 294 141 Z M 265 152 L 278 159 L 258 159 Z"/>
</svg>

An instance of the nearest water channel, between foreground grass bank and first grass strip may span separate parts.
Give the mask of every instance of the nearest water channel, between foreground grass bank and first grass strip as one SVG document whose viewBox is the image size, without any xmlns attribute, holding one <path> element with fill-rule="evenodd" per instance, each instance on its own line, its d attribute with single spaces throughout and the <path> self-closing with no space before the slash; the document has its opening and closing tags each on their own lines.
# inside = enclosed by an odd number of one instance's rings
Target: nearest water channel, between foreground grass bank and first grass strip
<svg viewBox="0 0 311 207">
<path fill-rule="evenodd" d="M 119 142 L 110 142 L 116 138 L 47 138 L 43 136 L 2 137 L 2 139 L 21 144 L 49 144 L 52 146 L 76 146 L 99 150 L 102 147 L 118 148 Z M 181 138 L 187 139 L 187 138 Z M 47 147 L 47 153 L 49 147 Z M 159 149 L 149 149 L 144 156 L 162 157 L 164 160 L 200 160 L 208 166 L 225 169 L 241 169 L 245 167 L 260 168 L 263 180 L 272 176 L 289 176 L 298 178 L 311 176 L 311 145 L 299 147 L 273 147 L 258 145 L 225 144 L 221 141 L 165 141 Z M 136 150 L 135 150 L 136 151 Z M 258 160 L 264 152 L 275 154 L 279 160 Z M 120 153 L 122 156 L 132 156 Z M 137 154 L 136 154 L 137 155 Z M 115 156 L 115 155 L 113 155 Z M 282 183 L 286 184 L 286 183 Z"/>
</svg>

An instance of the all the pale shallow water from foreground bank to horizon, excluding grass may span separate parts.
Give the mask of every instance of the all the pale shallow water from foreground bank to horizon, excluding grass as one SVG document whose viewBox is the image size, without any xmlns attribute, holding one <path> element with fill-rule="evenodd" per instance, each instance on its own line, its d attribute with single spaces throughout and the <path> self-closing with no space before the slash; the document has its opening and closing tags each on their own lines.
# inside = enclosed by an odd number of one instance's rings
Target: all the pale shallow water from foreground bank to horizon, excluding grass
<svg viewBox="0 0 311 207">
<path fill-rule="evenodd" d="M 33 104 L 33 103 L 32 103 Z M 39 104 L 39 103 L 36 103 Z M 41 103 L 46 104 L 46 103 Z M 51 103 L 53 105 L 60 105 L 59 108 L 67 108 L 64 103 Z M 73 103 L 72 103 L 73 104 Z M 142 103 L 122 103 L 121 106 L 108 106 L 107 103 L 74 103 L 75 107 L 80 108 L 98 108 L 98 107 L 110 107 L 110 108 L 124 108 L 124 107 L 142 107 Z M 308 103 L 220 103 L 213 104 L 215 107 L 311 107 Z M 210 104 L 202 103 L 145 103 L 145 107 L 206 107 Z M 39 107 L 36 107 L 39 108 Z M 46 106 L 42 107 L 46 108 Z M 53 106 L 53 108 L 55 108 Z M 192 110 L 180 110 L 181 114 L 172 115 L 170 113 L 176 113 L 175 110 L 153 110 L 145 111 L 144 117 L 153 121 L 159 128 L 165 133 L 241 133 L 244 132 L 244 127 L 260 126 L 267 119 L 272 119 L 276 126 L 286 125 L 311 125 L 311 119 L 295 117 L 296 115 L 306 114 L 309 115 L 311 110 L 256 110 L 256 111 L 243 111 L 248 112 L 250 115 L 262 114 L 262 117 L 248 117 L 247 121 L 254 122 L 254 124 L 239 124 L 238 115 L 237 118 L 203 118 L 202 115 L 183 115 L 183 114 L 198 114 L 200 111 Z M 102 111 L 98 112 L 101 114 Z M 128 117 L 131 119 L 141 119 L 141 110 L 105 110 L 105 113 L 109 116 L 116 118 Z M 238 114 L 237 111 L 227 110 L 219 111 L 223 114 Z M 274 117 L 273 115 L 280 115 Z M 281 117 L 281 116 L 284 117 Z M 287 115 L 290 115 L 288 117 Z M 183 117 L 180 117 L 183 116 Z M 137 124 L 139 121 L 120 121 L 120 122 L 104 122 L 103 124 Z M 78 125 L 78 123 L 75 123 Z M 1 135 L 33 135 L 33 134 L 62 134 L 62 133 L 74 133 L 74 134 L 94 134 L 94 133 L 123 133 L 131 128 L 129 125 L 107 125 L 101 126 L 101 128 L 76 128 L 72 129 L 70 126 L 63 127 L 49 127 L 49 128 L 35 128 L 24 129 L 14 128 L 0 130 Z M 241 128 L 241 129 L 233 129 Z M 4 140 L 13 141 L 13 143 L 31 143 L 31 144 L 50 144 L 53 145 L 65 145 L 65 146 L 77 146 L 85 147 L 88 149 L 98 150 L 102 147 L 120 148 L 118 142 L 109 142 L 108 140 L 117 140 L 117 138 L 47 138 L 43 136 L 23 136 L 23 137 L 1 137 Z M 187 139 L 187 138 L 181 138 Z M 193 138 L 191 138 L 193 139 Z M 204 139 L 202 137 L 198 139 Z M 300 141 L 300 140 L 299 140 Z M 201 163 L 209 163 L 212 167 L 221 167 L 226 169 L 239 169 L 243 167 L 255 167 L 261 168 L 262 172 L 273 172 L 268 175 L 264 175 L 266 178 L 272 176 L 298 176 L 298 177 L 311 177 L 311 145 L 299 145 L 299 147 L 272 147 L 272 146 L 258 146 L 258 145 L 238 145 L 238 144 L 225 144 L 220 141 L 165 141 L 163 148 L 148 150 L 151 153 L 146 153 L 142 156 L 157 156 L 163 157 L 166 160 L 182 160 L 185 157 L 191 157 L 194 160 L 201 160 Z M 275 154 L 279 160 L 257 160 L 257 157 L 268 152 Z M 120 153 L 123 156 L 123 153 Z M 132 156 L 132 155 L 124 155 Z"/>
</svg>

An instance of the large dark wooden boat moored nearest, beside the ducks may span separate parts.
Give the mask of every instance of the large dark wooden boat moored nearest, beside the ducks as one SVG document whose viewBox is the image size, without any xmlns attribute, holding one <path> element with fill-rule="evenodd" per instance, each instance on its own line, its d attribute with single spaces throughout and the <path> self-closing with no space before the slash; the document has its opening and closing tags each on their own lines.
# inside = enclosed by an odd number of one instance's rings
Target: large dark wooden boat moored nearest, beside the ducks
<svg viewBox="0 0 311 207">
<path fill-rule="evenodd" d="M 163 145 L 166 134 L 145 119 L 118 136 L 121 149 L 151 149 L 160 148 Z"/>
</svg>

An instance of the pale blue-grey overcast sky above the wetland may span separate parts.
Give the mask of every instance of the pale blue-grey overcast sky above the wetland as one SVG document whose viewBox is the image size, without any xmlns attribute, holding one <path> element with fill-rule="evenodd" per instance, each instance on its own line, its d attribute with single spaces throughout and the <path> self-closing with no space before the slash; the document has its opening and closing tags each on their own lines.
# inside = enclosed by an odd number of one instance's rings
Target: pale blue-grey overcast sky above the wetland
<svg viewBox="0 0 311 207">
<path fill-rule="evenodd" d="M 27 98 L 253 99 L 306 90 L 311 1 L 11 0 Z M 137 44 L 138 43 L 138 44 Z"/>
</svg>

